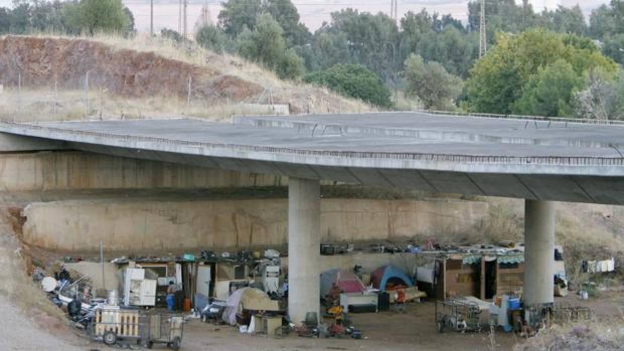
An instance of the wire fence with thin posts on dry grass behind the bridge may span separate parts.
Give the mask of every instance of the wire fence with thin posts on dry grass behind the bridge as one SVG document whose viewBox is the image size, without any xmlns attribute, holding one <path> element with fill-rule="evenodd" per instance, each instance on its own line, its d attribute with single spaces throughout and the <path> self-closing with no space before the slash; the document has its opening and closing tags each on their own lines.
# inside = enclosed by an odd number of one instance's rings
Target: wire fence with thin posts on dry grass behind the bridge
<svg viewBox="0 0 624 351">
<path fill-rule="evenodd" d="M 250 97 L 240 101 L 208 99 L 197 94 L 200 87 L 196 86 L 198 82 L 191 76 L 183 80 L 183 96 L 132 96 L 109 92 L 100 82 L 93 80 L 89 73 L 77 80 L 54 80 L 42 84 L 27 84 L 22 75 L 17 74 L 12 79 L 4 77 L 4 85 L 0 85 L 0 120 L 56 122 L 188 116 L 222 120 L 232 115 L 290 113 L 290 105 L 273 103 L 270 89 L 265 89 L 259 98 Z"/>
</svg>

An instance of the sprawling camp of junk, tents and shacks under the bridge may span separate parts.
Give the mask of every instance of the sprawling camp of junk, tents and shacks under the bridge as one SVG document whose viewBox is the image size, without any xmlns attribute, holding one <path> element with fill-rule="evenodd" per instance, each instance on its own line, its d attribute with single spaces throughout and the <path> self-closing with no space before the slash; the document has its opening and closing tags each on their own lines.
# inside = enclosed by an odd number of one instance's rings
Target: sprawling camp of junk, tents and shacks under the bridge
<svg viewBox="0 0 624 351">
<path fill-rule="evenodd" d="M 203 322 L 236 325 L 254 334 L 295 331 L 303 336 L 351 334 L 358 338 L 361 332 L 351 325 L 350 314 L 383 312 L 392 307 L 404 310 L 407 303 L 424 297 L 437 301 L 436 327 L 441 331 L 480 330 L 484 325 L 494 325 L 528 334 L 527 330 L 537 325 L 523 322 L 526 319 L 520 310 L 544 316 L 563 308 L 522 305 L 522 244 L 439 246 L 430 241 L 422 248 L 410 244 L 402 249 L 380 243 L 368 249 L 334 245 L 331 250 L 324 245 L 321 253 L 329 255 L 324 256 L 323 264 L 331 268 L 320 275 L 323 313 L 311 312 L 303 324 L 288 320 L 287 258 L 274 249 L 262 253 L 243 250 L 236 254 L 202 251 L 197 256 L 130 256 L 110 262 L 102 257 L 98 262 L 66 257 L 64 263 L 34 269 L 33 278 L 42 282 L 52 301 L 67 309 L 77 326 L 90 329 L 92 335 L 107 343 L 139 339 L 180 344 L 181 335 L 179 340 L 150 339 L 140 327 L 140 320 L 152 319 L 162 310 L 167 310 L 164 320 L 195 317 Z M 560 246 L 556 246 L 553 260 L 553 290 L 562 296 L 567 294 L 567 280 Z M 385 264 L 374 268 L 370 262 Z M 589 272 L 611 272 L 618 267 L 619 262 L 613 259 L 583 265 Z M 574 315 L 585 315 L 574 311 Z M 110 322 L 120 315 L 130 321 L 129 325 L 122 328 Z M 132 333 L 121 334 L 120 330 L 130 330 L 129 326 Z"/>
</svg>

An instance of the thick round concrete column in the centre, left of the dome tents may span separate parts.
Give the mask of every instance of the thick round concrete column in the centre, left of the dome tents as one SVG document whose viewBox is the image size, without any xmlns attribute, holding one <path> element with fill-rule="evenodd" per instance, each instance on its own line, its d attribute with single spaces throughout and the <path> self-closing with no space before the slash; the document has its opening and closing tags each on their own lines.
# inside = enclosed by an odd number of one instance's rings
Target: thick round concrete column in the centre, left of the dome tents
<svg viewBox="0 0 624 351">
<path fill-rule="evenodd" d="M 318 180 L 288 181 L 288 315 L 299 324 L 319 313 L 321 186 Z"/>
</svg>

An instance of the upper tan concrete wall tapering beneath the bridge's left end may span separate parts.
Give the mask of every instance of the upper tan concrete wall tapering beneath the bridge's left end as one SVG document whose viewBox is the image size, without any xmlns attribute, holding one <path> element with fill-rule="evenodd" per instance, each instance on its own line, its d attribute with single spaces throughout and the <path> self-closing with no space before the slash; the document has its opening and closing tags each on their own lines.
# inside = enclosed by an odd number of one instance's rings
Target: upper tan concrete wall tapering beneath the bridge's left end
<svg viewBox="0 0 624 351">
<path fill-rule="evenodd" d="M 287 178 L 81 151 L 0 154 L 0 190 L 212 188 L 287 185 Z"/>
</svg>

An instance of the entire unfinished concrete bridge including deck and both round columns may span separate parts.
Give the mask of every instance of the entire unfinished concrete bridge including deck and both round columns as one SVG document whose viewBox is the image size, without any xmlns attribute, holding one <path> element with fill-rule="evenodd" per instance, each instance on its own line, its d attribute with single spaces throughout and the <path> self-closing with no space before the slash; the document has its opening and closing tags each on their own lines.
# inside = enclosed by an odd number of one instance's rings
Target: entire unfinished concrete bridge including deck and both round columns
<svg viewBox="0 0 624 351">
<path fill-rule="evenodd" d="M 72 149 L 289 177 L 289 314 L 319 308 L 319 180 L 525 199 L 525 304 L 553 302 L 552 201 L 624 204 L 624 126 L 368 113 L 0 122 L 3 151 Z M 624 150 L 622 150 L 624 151 Z"/>
</svg>

